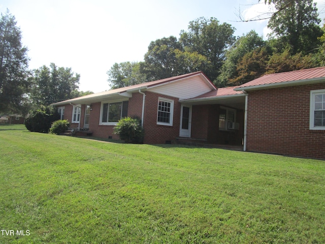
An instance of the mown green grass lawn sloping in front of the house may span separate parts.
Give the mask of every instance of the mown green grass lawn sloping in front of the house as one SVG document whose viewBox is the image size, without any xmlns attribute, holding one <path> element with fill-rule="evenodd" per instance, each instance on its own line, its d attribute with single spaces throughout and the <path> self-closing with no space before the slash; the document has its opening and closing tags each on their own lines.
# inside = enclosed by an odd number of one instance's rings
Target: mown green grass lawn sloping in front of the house
<svg viewBox="0 0 325 244">
<path fill-rule="evenodd" d="M 0 243 L 325 243 L 325 161 L 23 126 L 0 143 Z"/>
</svg>

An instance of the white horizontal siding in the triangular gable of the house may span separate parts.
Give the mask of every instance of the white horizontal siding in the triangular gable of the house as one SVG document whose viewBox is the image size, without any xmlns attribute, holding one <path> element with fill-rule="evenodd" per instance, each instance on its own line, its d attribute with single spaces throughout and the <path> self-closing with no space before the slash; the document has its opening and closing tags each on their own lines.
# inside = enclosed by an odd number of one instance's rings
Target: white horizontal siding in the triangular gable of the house
<svg viewBox="0 0 325 244">
<path fill-rule="evenodd" d="M 207 81 L 200 76 L 186 78 L 149 88 L 150 92 L 163 94 L 180 99 L 195 98 L 212 90 Z"/>
</svg>

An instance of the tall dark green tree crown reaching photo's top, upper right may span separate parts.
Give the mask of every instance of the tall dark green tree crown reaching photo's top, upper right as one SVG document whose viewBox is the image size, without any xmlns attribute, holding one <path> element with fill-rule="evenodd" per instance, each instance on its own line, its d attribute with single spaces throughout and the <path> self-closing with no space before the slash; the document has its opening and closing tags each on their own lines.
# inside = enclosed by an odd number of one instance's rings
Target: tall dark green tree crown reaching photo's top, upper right
<svg viewBox="0 0 325 244">
<path fill-rule="evenodd" d="M 319 45 L 317 38 L 322 35 L 316 4 L 312 0 L 273 2 L 275 8 L 281 11 L 271 17 L 268 27 L 272 29 L 277 43 L 282 44 L 282 49 L 290 50 L 293 55 L 316 52 Z"/>
</svg>

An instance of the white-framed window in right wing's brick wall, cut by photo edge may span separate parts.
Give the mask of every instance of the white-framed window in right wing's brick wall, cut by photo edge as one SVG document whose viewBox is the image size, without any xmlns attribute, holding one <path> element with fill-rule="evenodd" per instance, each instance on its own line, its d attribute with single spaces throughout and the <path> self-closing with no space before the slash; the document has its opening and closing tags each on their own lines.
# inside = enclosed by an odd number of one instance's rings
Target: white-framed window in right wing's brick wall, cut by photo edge
<svg viewBox="0 0 325 244">
<path fill-rule="evenodd" d="M 325 130 L 325 89 L 310 91 L 310 130 Z"/>
</svg>

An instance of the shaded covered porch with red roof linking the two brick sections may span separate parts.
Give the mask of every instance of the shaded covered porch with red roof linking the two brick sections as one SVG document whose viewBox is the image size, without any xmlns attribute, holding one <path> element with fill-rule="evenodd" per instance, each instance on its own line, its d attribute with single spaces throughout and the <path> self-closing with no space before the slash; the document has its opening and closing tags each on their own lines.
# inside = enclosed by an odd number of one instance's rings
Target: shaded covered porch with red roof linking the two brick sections
<svg viewBox="0 0 325 244">
<path fill-rule="evenodd" d="M 178 142 L 236 147 L 243 150 L 245 94 L 219 88 L 182 104 Z"/>
</svg>

